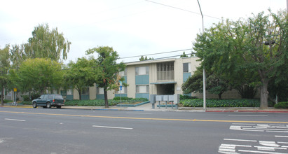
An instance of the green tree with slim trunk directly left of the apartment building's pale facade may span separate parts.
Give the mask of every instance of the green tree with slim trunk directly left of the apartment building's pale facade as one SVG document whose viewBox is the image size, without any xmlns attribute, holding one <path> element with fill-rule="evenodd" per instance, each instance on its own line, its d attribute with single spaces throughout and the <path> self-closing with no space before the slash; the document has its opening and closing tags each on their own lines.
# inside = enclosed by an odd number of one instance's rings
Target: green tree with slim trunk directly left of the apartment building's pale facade
<svg viewBox="0 0 288 154">
<path fill-rule="evenodd" d="M 117 76 L 119 71 L 124 71 L 125 64 L 123 62 L 117 64 L 116 60 L 119 59 L 119 55 L 109 46 L 100 46 L 86 50 L 86 55 L 91 55 L 95 52 L 98 53 L 98 58 L 95 61 L 96 66 L 100 69 L 99 78 L 95 78 L 95 83 L 97 86 L 104 88 L 105 107 L 108 108 L 107 90 L 117 88 Z"/>
</svg>

